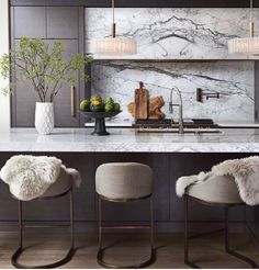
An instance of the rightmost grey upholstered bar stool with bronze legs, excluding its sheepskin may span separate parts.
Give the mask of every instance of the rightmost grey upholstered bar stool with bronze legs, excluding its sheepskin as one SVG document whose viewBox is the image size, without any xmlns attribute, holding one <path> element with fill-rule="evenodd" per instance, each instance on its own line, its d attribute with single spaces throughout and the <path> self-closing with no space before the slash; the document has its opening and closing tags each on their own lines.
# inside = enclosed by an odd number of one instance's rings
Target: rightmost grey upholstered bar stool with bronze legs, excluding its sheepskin
<svg viewBox="0 0 259 270">
<path fill-rule="evenodd" d="M 184 178 L 182 178 L 184 179 Z M 199 234 L 189 236 L 189 201 L 195 201 L 198 203 L 209 206 L 222 206 L 224 207 L 225 218 L 224 228 L 217 229 L 211 233 Z M 230 176 L 224 177 L 211 177 L 206 181 L 191 184 L 185 190 L 184 194 L 184 263 L 191 268 L 200 268 L 198 265 L 189 260 L 189 240 L 199 238 L 203 235 L 225 232 L 225 251 L 245 262 L 249 263 L 251 268 L 258 268 L 257 263 L 229 248 L 229 234 L 228 234 L 228 209 L 237 205 L 245 205 L 239 196 L 235 179 Z"/>
</svg>

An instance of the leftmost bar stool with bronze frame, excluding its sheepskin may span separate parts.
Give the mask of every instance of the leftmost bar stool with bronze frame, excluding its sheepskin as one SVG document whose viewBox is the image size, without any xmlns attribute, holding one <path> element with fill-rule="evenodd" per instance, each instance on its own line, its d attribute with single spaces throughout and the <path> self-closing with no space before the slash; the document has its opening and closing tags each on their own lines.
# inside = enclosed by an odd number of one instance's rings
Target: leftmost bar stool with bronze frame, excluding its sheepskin
<svg viewBox="0 0 259 270">
<path fill-rule="evenodd" d="M 11 262 L 15 268 L 23 269 L 41 269 L 41 268 L 56 268 L 63 266 L 71 260 L 75 254 L 75 236 L 74 236 L 74 194 L 72 194 L 72 179 L 63 168 L 60 168 L 60 175 L 55 183 L 53 183 L 48 190 L 44 193 L 44 195 L 34 199 L 32 201 L 46 201 L 54 200 L 69 194 L 70 202 L 70 222 L 69 224 L 55 224 L 55 225 L 31 225 L 29 223 L 23 222 L 23 204 L 24 201 L 18 201 L 19 206 L 19 247 L 15 252 L 12 255 Z M 16 199 L 16 198 L 14 198 Z M 43 266 L 29 266 L 18 262 L 19 258 L 24 251 L 23 245 L 23 229 L 24 228 L 41 228 L 41 227 L 70 227 L 70 247 L 66 256 L 48 265 Z"/>
</svg>

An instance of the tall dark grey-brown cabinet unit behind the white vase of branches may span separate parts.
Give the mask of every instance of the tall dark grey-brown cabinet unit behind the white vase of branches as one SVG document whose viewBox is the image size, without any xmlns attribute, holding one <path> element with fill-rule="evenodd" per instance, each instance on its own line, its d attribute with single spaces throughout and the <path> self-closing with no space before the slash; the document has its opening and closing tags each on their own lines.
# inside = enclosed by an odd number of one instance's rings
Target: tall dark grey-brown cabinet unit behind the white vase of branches
<svg viewBox="0 0 259 270">
<path fill-rule="evenodd" d="M 48 44 L 60 41 L 65 48 L 65 58 L 72 54 L 83 54 L 83 8 L 82 7 L 13 7 L 11 12 L 12 47 L 22 36 L 40 37 Z M 54 101 L 55 126 L 78 127 L 83 124 L 78 113 L 79 101 L 85 93 L 85 81 L 75 74 L 77 82 L 63 83 Z M 12 126 L 34 126 L 35 102 L 37 95 L 30 83 L 13 76 L 15 82 L 12 95 Z M 74 102 L 71 102 L 74 99 Z"/>
</svg>

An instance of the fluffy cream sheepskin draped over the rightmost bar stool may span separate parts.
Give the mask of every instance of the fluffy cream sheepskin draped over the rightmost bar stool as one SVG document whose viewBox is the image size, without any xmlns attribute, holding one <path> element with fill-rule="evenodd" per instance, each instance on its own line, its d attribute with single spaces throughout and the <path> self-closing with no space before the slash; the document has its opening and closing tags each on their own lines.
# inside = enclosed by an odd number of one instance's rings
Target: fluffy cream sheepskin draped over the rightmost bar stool
<svg viewBox="0 0 259 270">
<path fill-rule="evenodd" d="M 259 204 L 259 157 L 229 159 L 212 167 L 210 172 L 181 177 L 177 181 L 178 196 L 183 196 L 185 189 L 213 176 L 232 176 L 235 179 L 241 200 L 248 205 Z"/>
</svg>

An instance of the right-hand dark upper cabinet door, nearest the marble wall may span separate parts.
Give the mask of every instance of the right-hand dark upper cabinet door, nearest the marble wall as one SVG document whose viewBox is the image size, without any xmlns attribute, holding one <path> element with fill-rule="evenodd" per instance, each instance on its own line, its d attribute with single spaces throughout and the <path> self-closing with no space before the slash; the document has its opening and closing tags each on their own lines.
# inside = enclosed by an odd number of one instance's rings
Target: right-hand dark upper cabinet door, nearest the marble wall
<svg viewBox="0 0 259 270">
<path fill-rule="evenodd" d="M 47 7 L 47 38 L 78 38 L 78 7 Z"/>
</svg>

